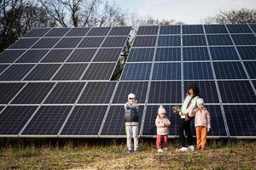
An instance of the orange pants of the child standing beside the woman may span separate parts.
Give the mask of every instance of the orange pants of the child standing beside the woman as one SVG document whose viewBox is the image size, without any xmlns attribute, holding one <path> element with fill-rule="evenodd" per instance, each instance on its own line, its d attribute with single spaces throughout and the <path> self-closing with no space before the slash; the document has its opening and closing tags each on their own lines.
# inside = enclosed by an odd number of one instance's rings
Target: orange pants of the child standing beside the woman
<svg viewBox="0 0 256 170">
<path fill-rule="evenodd" d="M 207 144 L 207 127 L 195 127 L 196 148 L 205 149 Z"/>
</svg>

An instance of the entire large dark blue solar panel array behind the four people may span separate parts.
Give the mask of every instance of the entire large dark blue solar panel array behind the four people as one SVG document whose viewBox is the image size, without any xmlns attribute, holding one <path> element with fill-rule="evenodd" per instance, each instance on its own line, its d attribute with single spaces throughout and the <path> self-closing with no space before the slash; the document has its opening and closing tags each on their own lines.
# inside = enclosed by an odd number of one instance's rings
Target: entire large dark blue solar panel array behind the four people
<svg viewBox="0 0 256 170">
<path fill-rule="evenodd" d="M 131 27 L 33 29 L 0 54 L 0 136 L 124 138 L 123 105 L 134 93 L 140 136 L 156 135 L 164 105 L 177 137 L 172 106 L 195 82 L 210 138 L 255 138 L 255 28 L 140 26 L 119 81 L 110 78 Z"/>
</svg>

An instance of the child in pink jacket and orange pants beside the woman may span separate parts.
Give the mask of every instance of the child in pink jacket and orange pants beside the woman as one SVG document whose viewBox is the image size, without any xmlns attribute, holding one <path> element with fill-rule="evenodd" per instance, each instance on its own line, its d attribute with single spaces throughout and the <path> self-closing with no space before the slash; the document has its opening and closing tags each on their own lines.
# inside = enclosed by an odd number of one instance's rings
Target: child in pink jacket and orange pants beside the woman
<svg viewBox="0 0 256 170">
<path fill-rule="evenodd" d="M 190 111 L 190 116 L 195 116 L 196 150 L 205 150 L 207 133 L 211 129 L 210 113 L 204 106 L 203 99 L 197 99 L 197 108 Z"/>
</svg>

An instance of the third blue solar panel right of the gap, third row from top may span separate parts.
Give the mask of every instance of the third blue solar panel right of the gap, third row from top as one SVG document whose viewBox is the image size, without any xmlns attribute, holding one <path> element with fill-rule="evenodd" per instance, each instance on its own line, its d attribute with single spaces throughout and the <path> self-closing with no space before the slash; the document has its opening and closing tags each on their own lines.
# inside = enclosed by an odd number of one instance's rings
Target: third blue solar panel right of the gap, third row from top
<svg viewBox="0 0 256 170">
<path fill-rule="evenodd" d="M 209 60 L 207 48 L 183 48 L 183 60 Z"/>
</svg>

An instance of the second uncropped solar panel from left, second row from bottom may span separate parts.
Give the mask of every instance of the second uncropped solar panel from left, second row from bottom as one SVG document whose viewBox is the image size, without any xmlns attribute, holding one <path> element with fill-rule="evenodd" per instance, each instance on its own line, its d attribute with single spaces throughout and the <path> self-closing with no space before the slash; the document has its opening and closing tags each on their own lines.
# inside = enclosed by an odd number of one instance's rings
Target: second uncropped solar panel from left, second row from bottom
<svg viewBox="0 0 256 170">
<path fill-rule="evenodd" d="M 44 101 L 45 104 L 74 104 L 84 88 L 84 82 L 58 82 Z"/>
</svg>

